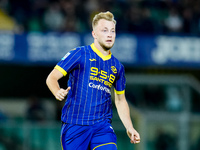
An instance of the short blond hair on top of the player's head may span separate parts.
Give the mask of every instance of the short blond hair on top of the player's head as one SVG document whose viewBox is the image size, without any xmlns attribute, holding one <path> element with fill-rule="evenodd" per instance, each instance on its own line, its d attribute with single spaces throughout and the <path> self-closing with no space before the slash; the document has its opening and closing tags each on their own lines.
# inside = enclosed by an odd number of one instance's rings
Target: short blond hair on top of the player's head
<svg viewBox="0 0 200 150">
<path fill-rule="evenodd" d="M 114 24 L 116 24 L 116 20 L 114 19 L 114 15 L 107 11 L 107 12 L 100 12 L 98 14 L 96 14 L 92 20 L 92 29 L 94 29 L 94 27 L 98 24 L 99 20 L 101 19 L 105 19 L 108 21 L 113 21 Z"/>
</svg>

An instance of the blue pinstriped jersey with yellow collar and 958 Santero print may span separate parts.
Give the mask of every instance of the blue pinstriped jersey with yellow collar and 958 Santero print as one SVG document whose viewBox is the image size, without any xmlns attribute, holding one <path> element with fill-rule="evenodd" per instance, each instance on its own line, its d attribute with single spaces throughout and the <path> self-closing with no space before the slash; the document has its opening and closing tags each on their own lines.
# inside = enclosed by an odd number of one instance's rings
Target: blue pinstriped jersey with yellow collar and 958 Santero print
<svg viewBox="0 0 200 150">
<path fill-rule="evenodd" d="M 65 123 L 92 125 L 112 118 L 111 87 L 123 94 L 124 66 L 112 55 L 104 56 L 94 43 L 68 52 L 55 66 L 69 74 L 71 90 L 62 109 Z"/>
</svg>

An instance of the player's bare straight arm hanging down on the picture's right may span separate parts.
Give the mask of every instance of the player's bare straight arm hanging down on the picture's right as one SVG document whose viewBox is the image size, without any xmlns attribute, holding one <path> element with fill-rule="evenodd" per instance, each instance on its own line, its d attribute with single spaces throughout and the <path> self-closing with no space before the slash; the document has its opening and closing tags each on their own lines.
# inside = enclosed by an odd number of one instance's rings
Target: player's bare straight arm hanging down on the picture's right
<svg viewBox="0 0 200 150">
<path fill-rule="evenodd" d="M 115 92 L 115 105 L 116 105 L 119 117 L 126 128 L 129 138 L 131 139 L 130 142 L 134 144 L 139 143 L 140 135 L 133 127 L 131 117 L 130 117 L 129 106 L 126 101 L 126 97 L 124 93 L 117 94 Z"/>
</svg>

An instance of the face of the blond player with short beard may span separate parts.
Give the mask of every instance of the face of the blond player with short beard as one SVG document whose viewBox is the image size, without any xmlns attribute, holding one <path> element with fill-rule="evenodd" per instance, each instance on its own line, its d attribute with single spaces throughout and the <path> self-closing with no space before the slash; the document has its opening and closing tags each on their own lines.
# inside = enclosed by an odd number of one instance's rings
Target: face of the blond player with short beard
<svg viewBox="0 0 200 150">
<path fill-rule="evenodd" d="M 104 50 L 110 50 L 115 42 L 115 24 L 105 19 L 99 20 L 94 28 L 95 39 Z"/>
</svg>

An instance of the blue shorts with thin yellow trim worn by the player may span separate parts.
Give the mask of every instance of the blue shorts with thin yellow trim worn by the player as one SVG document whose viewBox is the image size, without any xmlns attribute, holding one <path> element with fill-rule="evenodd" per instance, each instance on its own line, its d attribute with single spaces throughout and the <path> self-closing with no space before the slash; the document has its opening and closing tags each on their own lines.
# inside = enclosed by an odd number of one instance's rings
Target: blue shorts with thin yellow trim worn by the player
<svg viewBox="0 0 200 150">
<path fill-rule="evenodd" d="M 116 134 L 106 121 L 90 126 L 62 124 L 63 150 L 117 150 L 116 142 Z"/>
</svg>

